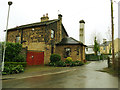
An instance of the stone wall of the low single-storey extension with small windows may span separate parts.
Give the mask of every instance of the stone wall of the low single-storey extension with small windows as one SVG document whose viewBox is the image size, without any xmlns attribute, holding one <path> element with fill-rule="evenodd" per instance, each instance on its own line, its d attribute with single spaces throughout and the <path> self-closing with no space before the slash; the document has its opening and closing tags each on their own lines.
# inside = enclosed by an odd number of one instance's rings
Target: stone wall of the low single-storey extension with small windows
<svg viewBox="0 0 120 90">
<path fill-rule="evenodd" d="M 73 61 L 79 60 L 82 61 L 85 59 L 85 48 L 80 45 L 60 45 L 56 46 L 55 53 L 59 54 L 61 56 L 61 60 L 65 60 L 65 48 L 71 48 L 70 57 L 73 59 Z M 77 55 L 77 49 L 79 48 L 79 55 Z M 83 49 L 84 50 L 83 50 Z"/>
</svg>

